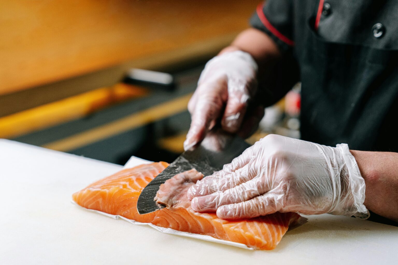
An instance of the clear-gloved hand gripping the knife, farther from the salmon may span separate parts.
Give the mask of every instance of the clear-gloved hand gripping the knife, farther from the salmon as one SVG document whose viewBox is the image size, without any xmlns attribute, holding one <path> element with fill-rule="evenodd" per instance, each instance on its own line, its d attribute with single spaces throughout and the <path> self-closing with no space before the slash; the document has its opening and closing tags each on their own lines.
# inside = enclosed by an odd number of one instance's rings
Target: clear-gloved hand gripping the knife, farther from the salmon
<svg viewBox="0 0 398 265">
<path fill-rule="evenodd" d="M 257 90 L 256 74 L 256 62 L 240 50 L 225 52 L 207 62 L 188 103 L 192 122 L 184 142 L 185 150 L 200 143 L 218 118 L 223 130 L 238 132 L 248 103 Z M 252 128 L 249 127 L 257 126 L 263 115 L 264 108 L 260 107 L 254 110 L 253 117 L 245 118 L 246 134 L 250 134 L 248 131 Z"/>
</svg>

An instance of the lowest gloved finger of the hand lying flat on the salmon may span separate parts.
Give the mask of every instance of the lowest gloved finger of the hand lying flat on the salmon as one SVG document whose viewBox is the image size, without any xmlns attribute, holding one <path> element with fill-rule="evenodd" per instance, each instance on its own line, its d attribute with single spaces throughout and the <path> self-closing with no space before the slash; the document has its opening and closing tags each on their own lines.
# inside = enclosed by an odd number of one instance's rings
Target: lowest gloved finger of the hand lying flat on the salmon
<svg viewBox="0 0 398 265">
<path fill-rule="evenodd" d="M 249 219 L 269 215 L 281 210 L 279 196 L 275 193 L 265 193 L 241 203 L 220 206 L 217 217 L 220 219 Z"/>
</svg>

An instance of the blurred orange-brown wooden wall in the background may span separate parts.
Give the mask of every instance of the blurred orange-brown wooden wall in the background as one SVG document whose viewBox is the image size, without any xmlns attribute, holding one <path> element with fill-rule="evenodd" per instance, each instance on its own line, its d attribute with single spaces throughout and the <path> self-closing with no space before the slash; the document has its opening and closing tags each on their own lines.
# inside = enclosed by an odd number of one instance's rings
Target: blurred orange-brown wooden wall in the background
<svg viewBox="0 0 398 265">
<path fill-rule="evenodd" d="M 224 45 L 248 27 L 248 19 L 258 2 L 2 1 L 0 95 L 99 71 L 129 60 L 145 61 L 148 57 L 156 63 L 157 55 L 161 57 L 195 43 L 205 47 L 207 41 L 219 40 Z M 62 89 L 62 85 L 59 87 Z M 47 89 L 45 93 L 51 91 Z"/>
</svg>

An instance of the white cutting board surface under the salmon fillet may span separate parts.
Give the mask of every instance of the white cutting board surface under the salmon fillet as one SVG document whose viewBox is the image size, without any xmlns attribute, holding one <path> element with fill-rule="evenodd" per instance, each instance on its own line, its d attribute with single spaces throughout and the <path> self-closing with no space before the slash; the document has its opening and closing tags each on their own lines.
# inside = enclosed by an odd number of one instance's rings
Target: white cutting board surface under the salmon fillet
<svg viewBox="0 0 398 265">
<path fill-rule="evenodd" d="M 71 194 L 121 166 L 0 139 L 0 264 L 396 264 L 398 227 L 319 215 L 272 251 L 160 233 Z"/>
</svg>

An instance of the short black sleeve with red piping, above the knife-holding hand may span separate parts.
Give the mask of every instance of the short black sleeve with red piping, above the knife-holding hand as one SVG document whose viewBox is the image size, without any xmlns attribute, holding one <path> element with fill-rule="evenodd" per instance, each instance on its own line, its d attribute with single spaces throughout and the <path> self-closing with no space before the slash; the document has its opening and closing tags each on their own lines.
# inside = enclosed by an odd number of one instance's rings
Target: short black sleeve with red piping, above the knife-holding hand
<svg viewBox="0 0 398 265">
<path fill-rule="evenodd" d="M 292 0 L 267 0 L 259 4 L 250 24 L 267 33 L 283 52 L 295 45 Z"/>
</svg>

